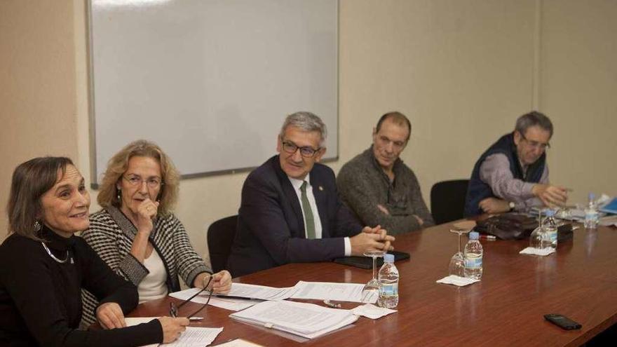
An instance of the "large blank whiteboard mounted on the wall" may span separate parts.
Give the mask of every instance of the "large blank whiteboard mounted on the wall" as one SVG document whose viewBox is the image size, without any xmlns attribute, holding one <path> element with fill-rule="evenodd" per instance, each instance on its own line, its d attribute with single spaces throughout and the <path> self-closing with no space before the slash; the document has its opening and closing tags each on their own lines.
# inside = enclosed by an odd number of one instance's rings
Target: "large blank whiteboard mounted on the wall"
<svg viewBox="0 0 617 347">
<path fill-rule="evenodd" d="M 91 0 L 93 181 L 137 139 L 183 177 L 255 168 L 287 114 L 338 155 L 337 0 Z"/>
</svg>

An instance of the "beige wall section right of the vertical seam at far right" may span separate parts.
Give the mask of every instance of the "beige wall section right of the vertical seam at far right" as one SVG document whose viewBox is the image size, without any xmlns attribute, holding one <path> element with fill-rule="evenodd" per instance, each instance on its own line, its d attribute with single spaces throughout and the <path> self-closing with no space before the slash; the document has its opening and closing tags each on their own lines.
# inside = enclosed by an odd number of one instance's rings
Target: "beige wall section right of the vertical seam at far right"
<svg viewBox="0 0 617 347">
<path fill-rule="evenodd" d="M 545 0 L 540 108 L 555 122 L 554 182 L 617 196 L 617 1 Z"/>
</svg>

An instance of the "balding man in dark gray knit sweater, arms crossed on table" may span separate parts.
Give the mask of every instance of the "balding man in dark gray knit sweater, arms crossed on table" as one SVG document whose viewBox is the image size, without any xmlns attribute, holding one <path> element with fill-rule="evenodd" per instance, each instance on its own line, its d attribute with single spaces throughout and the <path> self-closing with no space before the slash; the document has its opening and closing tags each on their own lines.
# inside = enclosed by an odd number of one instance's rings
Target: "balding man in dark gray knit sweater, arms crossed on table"
<svg viewBox="0 0 617 347">
<path fill-rule="evenodd" d="M 381 225 L 389 235 L 432 226 L 414 172 L 399 158 L 412 132 L 400 112 L 379 118 L 373 144 L 343 165 L 337 177 L 341 199 L 365 225 Z"/>
</svg>

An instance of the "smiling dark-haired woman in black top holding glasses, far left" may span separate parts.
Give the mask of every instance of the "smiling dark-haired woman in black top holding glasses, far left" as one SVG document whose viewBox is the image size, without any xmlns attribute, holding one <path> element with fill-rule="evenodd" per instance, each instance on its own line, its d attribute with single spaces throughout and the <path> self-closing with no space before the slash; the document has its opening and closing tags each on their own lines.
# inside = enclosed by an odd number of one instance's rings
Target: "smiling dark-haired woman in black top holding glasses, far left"
<svg viewBox="0 0 617 347">
<path fill-rule="evenodd" d="M 90 195 L 69 158 L 34 158 L 13 172 L 9 236 L 0 245 L 0 346 L 141 346 L 170 342 L 189 325 L 163 317 L 126 327 L 137 289 L 111 271 L 77 231 Z M 102 327 L 78 330 L 81 288 L 97 296 Z"/>
</svg>

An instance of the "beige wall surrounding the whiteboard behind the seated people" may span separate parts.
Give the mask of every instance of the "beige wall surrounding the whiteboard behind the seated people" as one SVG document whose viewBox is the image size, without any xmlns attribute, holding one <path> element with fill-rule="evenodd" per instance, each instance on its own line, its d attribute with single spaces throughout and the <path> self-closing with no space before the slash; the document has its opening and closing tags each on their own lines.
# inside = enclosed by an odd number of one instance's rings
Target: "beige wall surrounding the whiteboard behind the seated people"
<svg viewBox="0 0 617 347">
<path fill-rule="evenodd" d="M 3 124 L 29 115 L 50 124 L 37 127 L 36 137 L 43 137 L 37 146 L 11 142 L 11 147 L 6 147 L 6 127 L 0 130 L 0 151 L 11 163 L 0 169 L 4 186 L 8 186 L 15 163 L 40 154 L 36 149 L 78 158 L 84 175 L 90 163 L 83 2 L 53 1 L 55 6 L 44 10 L 27 3 L 0 2 L 0 13 L 6 13 L 3 10 L 8 7 L 23 13 L 19 21 L 13 15 L 0 14 L 2 51 L 7 40 L 8 46 L 25 44 L 18 39 L 18 32 L 34 39 L 36 53 L 22 49 L 15 61 L 34 60 L 33 55 L 55 56 L 56 45 L 49 41 L 61 41 L 61 46 L 70 49 L 59 60 L 36 60 L 38 74 L 52 76 L 54 82 L 53 90 L 39 83 L 32 86 L 42 99 L 32 95 L 30 88 L 8 89 L 13 96 L 6 100 L 17 101 L 11 107 L 14 116 L 5 115 L 3 106 Z M 617 125 L 611 117 L 616 109 L 611 96 L 617 90 L 612 64 L 617 61 L 612 37 L 617 27 L 611 20 L 617 15 L 614 2 L 341 0 L 340 9 L 340 160 L 330 163 L 335 171 L 368 147 L 379 115 L 398 109 L 411 118 L 414 127 L 402 157 L 416 171 L 428 203 L 433 183 L 468 177 L 480 152 L 510 131 L 517 116 L 538 105 L 557 128 L 549 154 L 552 180 L 575 189 L 574 196 L 581 201 L 588 189 L 617 195 L 609 175 L 603 174 L 617 166 L 610 159 L 615 140 L 609 137 Z M 64 22 L 44 25 L 50 18 Z M 4 34 L 6 20 L 13 23 L 10 27 L 15 34 Z M 41 34 L 47 39 L 41 39 Z M 5 69 L 4 53 L 2 59 Z M 15 62 L 13 69 L 18 68 Z M 70 71 L 60 74 L 61 69 Z M 23 70 L 14 77 L 20 83 L 33 78 L 32 67 Z M 65 78 L 67 75 L 73 79 Z M 1 76 L 4 79 L 6 74 Z M 6 84 L 0 87 L 3 98 Z M 59 93 L 65 98 L 48 107 L 50 95 Z M 5 104 L 4 99 L 0 104 Z M 41 110 L 29 111 L 34 107 Z M 72 112 L 76 116 L 67 116 Z M 65 121 L 76 133 L 67 132 L 62 137 L 66 143 L 57 147 L 55 132 L 47 130 Z M 26 126 L 18 128 L 14 136 L 32 139 Z M 274 149 L 276 139 L 271 140 Z M 77 149 L 74 143 L 79 144 Z M 593 165 L 593 170 L 582 170 L 581 164 Z M 198 252 L 205 252 L 206 227 L 237 212 L 245 177 L 236 174 L 182 181 L 176 212 Z M 6 201 L 6 193 L 1 193 Z"/>
</svg>

